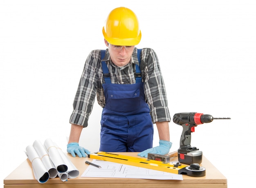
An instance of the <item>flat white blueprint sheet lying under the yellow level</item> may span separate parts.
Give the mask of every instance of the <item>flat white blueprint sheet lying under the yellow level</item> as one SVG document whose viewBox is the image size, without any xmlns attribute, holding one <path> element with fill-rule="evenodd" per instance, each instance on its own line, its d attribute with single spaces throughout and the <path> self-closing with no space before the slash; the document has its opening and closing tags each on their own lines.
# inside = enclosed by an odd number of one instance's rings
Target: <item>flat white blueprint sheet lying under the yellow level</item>
<svg viewBox="0 0 256 188">
<path fill-rule="evenodd" d="M 151 170 L 148 168 L 141 168 L 137 166 L 130 166 L 108 161 L 100 161 L 97 159 L 93 159 L 92 163 L 101 166 L 101 168 L 89 165 L 88 168 L 83 172 L 81 177 L 183 180 L 182 175 L 158 170 Z"/>
</svg>

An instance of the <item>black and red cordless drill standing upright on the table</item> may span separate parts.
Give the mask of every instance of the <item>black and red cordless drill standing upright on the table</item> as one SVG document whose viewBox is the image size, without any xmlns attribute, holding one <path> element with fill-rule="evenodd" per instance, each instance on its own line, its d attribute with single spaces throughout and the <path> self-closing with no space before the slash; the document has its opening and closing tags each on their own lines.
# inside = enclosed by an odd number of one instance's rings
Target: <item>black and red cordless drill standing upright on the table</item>
<svg viewBox="0 0 256 188">
<path fill-rule="evenodd" d="M 178 160 L 180 163 L 192 164 L 202 162 L 202 151 L 196 147 L 191 147 L 191 132 L 195 132 L 195 127 L 203 123 L 210 123 L 213 119 L 230 119 L 230 118 L 213 118 L 208 114 L 197 112 L 182 112 L 174 114 L 173 122 L 181 125 L 182 135 L 180 138 L 180 148 L 178 149 Z"/>
</svg>

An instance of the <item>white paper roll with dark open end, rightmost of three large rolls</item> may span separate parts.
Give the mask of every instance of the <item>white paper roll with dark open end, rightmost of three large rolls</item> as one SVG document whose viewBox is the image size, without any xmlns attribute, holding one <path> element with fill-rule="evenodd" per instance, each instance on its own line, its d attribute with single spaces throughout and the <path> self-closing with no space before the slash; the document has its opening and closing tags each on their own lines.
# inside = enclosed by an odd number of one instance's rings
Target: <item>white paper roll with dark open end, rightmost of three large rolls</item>
<svg viewBox="0 0 256 188">
<path fill-rule="evenodd" d="M 59 154 L 56 146 L 54 145 L 54 142 L 51 139 L 46 139 L 44 146 L 57 171 L 59 173 L 67 172 L 67 165 Z"/>
</svg>

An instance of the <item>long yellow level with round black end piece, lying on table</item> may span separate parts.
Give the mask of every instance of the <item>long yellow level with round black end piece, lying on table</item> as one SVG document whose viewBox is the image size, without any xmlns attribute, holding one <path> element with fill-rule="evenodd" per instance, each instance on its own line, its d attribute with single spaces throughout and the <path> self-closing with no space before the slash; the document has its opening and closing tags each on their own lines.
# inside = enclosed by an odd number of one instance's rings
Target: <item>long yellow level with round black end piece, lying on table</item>
<svg viewBox="0 0 256 188">
<path fill-rule="evenodd" d="M 171 164 L 162 161 L 150 160 L 139 157 L 130 157 L 126 155 L 120 155 L 109 152 L 97 152 L 88 154 L 89 158 L 99 159 L 103 161 L 110 161 L 115 163 L 121 163 L 131 166 L 138 166 L 142 168 L 148 168 L 152 170 L 160 170 L 164 172 L 170 172 L 174 174 L 183 174 L 192 177 L 203 177 L 205 176 L 205 168 L 200 167 L 199 164 L 191 164 L 190 166 L 183 165 L 180 163 Z"/>
</svg>

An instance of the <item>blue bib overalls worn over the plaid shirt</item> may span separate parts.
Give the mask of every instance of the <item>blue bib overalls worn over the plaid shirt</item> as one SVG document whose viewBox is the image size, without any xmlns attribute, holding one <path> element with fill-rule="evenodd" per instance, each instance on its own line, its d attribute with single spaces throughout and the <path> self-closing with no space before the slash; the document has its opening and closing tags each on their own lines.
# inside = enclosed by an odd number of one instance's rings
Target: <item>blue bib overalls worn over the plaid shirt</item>
<svg viewBox="0 0 256 188">
<path fill-rule="evenodd" d="M 138 60 L 140 62 L 140 50 Z M 105 50 L 101 52 L 101 58 Z M 141 152 L 153 145 L 153 123 L 145 102 L 141 77 L 135 84 L 112 84 L 106 62 L 102 61 L 106 105 L 101 116 L 100 151 Z M 140 73 L 136 65 L 136 73 Z"/>
</svg>

